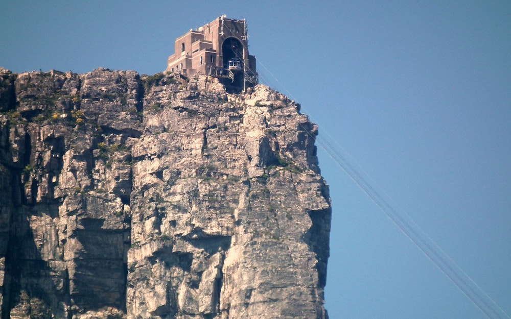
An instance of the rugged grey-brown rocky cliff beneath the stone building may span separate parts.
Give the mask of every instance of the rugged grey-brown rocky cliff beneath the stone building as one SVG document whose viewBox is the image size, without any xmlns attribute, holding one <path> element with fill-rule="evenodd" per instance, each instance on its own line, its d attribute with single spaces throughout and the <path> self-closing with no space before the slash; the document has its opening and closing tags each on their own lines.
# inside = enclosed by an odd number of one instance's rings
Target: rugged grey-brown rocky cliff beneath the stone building
<svg viewBox="0 0 511 319">
<path fill-rule="evenodd" d="M 200 75 L 0 81 L 2 319 L 327 317 L 330 198 L 298 104 Z"/>
</svg>

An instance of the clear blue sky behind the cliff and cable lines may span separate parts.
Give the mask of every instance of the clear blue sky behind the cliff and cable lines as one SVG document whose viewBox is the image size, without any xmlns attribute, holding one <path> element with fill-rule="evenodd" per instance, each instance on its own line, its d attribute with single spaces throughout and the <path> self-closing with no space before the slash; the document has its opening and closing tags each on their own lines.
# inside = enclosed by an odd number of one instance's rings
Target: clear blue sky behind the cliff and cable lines
<svg viewBox="0 0 511 319">
<path fill-rule="evenodd" d="M 2 1 L 0 66 L 151 75 L 175 38 L 222 14 L 247 19 L 260 81 L 301 103 L 320 136 L 511 314 L 508 0 Z M 332 319 L 484 317 L 319 157 L 333 202 Z"/>
</svg>

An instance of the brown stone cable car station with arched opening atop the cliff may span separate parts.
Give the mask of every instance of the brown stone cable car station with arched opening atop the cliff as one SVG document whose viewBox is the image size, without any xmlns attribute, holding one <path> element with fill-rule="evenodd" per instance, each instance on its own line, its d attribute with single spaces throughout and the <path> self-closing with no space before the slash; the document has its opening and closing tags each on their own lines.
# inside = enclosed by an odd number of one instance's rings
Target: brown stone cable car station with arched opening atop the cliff
<svg viewBox="0 0 511 319">
<path fill-rule="evenodd" d="M 248 54 L 245 19 L 216 18 L 176 39 L 167 61 L 169 72 L 202 73 L 221 79 L 226 87 L 244 90 L 258 83 L 255 57 Z"/>
</svg>

